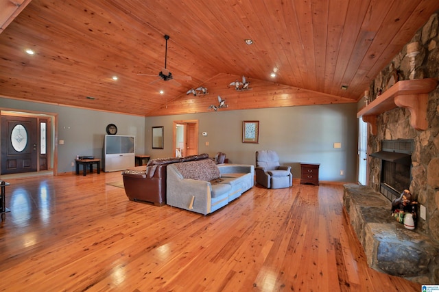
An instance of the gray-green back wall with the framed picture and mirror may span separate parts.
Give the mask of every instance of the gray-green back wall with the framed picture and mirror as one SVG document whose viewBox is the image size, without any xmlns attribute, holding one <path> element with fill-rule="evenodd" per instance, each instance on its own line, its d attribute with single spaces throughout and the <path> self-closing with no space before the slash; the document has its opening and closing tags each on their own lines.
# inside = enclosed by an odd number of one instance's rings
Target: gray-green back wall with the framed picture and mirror
<svg viewBox="0 0 439 292">
<path fill-rule="evenodd" d="M 356 114 L 357 104 L 349 103 L 147 117 L 145 149 L 152 158 L 173 157 L 173 121 L 198 120 L 200 153 L 213 157 L 222 151 L 232 163 L 254 165 L 257 150 L 272 149 L 278 152 L 282 164 L 292 165 L 295 178 L 300 178 L 300 162 L 313 162 L 320 163 L 320 181 L 356 182 Z M 244 120 L 259 120 L 259 144 L 242 143 Z M 155 126 L 165 127 L 163 150 L 152 149 L 151 127 Z M 342 148 L 333 148 L 335 142 Z"/>
</svg>

